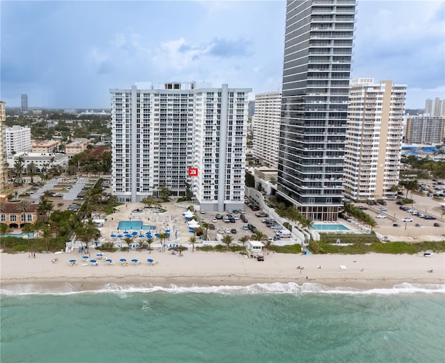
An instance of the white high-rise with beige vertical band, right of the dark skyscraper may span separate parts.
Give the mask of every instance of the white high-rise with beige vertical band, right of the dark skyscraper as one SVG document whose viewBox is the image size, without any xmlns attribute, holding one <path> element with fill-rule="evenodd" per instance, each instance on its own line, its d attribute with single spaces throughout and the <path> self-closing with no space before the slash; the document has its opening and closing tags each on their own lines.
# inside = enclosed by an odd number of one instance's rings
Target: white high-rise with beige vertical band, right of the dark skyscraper
<svg viewBox="0 0 445 363">
<path fill-rule="evenodd" d="M 398 184 L 406 85 L 351 81 L 344 166 L 345 194 L 360 201 L 394 198 Z"/>
</svg>

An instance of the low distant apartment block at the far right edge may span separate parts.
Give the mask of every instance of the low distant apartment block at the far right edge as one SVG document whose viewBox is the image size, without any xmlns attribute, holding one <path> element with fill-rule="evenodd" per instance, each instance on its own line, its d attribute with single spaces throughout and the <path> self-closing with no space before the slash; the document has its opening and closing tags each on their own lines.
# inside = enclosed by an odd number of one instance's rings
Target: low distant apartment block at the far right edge
<svg viewBox="0 0 445 363">
<path fill-rule="evenodd" d="M 406 119 L 405 143 L 442 144 L 444 142 L 444 117 L 410 116 Z"/>
</svg>

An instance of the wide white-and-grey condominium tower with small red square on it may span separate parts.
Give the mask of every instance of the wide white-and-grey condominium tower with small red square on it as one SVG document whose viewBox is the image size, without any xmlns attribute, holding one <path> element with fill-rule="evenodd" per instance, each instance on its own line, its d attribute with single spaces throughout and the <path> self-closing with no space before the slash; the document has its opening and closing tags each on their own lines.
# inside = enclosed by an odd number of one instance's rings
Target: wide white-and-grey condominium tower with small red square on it
<svg viewBox="0 0 445 363">
<path fill-rule="evenodd" d="M 111 90 L 113 194 L 119 201 L 191 189 L 204 210 L 244 201 L 248 88 L 165 83 Z"/>
</svg>

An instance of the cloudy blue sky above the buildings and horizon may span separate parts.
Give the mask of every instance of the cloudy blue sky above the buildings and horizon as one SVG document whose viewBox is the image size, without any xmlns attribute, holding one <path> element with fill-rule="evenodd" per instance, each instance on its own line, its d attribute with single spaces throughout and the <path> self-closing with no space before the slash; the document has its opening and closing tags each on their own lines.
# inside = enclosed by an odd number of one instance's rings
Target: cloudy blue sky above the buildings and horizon
<svg viewBox="0 0 445 363">
<path fill-rule="evenodd" d="M 285 1 L 0 1 L 0 99 L 109 108 L 110 88 L 206 81 L 280 90 Z M 353 77 L 445 98 L 445 2 L 359 1 Z"/>
</svg>

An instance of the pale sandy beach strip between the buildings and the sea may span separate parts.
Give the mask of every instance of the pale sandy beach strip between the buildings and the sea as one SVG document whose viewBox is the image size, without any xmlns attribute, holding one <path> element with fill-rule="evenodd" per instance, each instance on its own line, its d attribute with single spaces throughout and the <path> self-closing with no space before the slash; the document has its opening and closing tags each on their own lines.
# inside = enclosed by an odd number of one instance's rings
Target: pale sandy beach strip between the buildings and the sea
<svg viewBox="0 0 445 363">
<path fill-rule="evenodd" d="M 95 255 L 95 250 L 90 250 Z M 331 287 L 379 288 L 403 282 L 444 284 L 445 254 L 421 255 L 290 255 L 269 253 L 264 262 L 239 253 L 186 251 L 184 256 L 166 251 L 106 253 L 115 264 L 98 260 L 94 266 L 81 255 L 1 253 L 1 285 L 34 284 L 56 288 L 69 283 L 74 289 L 100 289 L 117 285 L 251 285 L 271 282 L 315 282 Z M 57 263 L 51 260 L 58 258 Z M 77 260 L 71 266 L 69 260 Z M 129 264 L 122 265 L 120 258 Z M 140 264 L 131 262 L 138 259 Z M 151 258 L 157 264 L 149 264 Z M 300 268 L 298 268 L 300 267 Z M 341 269 L 346 267 L 346 269 Z M 431 271 L 432 272 L 429 272 Z"/>
</svg>

